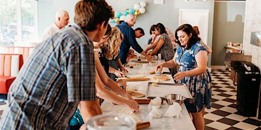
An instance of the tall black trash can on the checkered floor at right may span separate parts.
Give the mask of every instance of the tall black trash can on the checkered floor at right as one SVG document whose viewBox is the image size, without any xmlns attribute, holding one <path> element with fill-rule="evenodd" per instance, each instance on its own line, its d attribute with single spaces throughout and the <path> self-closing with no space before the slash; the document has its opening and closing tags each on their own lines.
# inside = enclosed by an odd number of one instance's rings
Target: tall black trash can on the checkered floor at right
<svg viewBox="0 0 261 130">
<path fill-rule="evenodd" d="M 256 116 L 260 71 L 251 62 L 240 62 L 237 86 L 237 110 L 242 116 Z"/>
</svg>

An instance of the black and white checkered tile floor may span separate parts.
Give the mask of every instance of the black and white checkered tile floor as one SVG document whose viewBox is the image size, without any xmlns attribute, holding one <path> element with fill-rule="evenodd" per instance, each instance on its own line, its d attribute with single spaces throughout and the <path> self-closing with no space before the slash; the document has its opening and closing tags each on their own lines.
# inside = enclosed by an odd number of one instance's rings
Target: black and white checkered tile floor
<svg viewBox="0 0 261 130">
<path fill-rule="evenodd" d="M 211 75 L 212 108 L 205 109 L 205 130 L 261 129 L 261 120 L 256 117 L 241 116 L 237 111 L 237 88 L 230 80 L 230 72 L 212 70 Z M 7 101 L 0 99 L 0 116 L 6 106 Z"/>
</svg>

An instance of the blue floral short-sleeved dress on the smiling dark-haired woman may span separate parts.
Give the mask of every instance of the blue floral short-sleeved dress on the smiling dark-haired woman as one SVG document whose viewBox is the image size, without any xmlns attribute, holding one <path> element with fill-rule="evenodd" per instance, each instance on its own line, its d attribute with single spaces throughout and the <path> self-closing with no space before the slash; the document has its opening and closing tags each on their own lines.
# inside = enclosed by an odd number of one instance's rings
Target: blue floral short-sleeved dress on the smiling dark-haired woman
<svg viewBox="0 0 261 130">
<path fill-rule="evenodd" d="M 177 57 L 175 59 L 176 63 L 179 65 L 178 72 L 189 71 L 197 68 L 195 55 L 200 50 L 205 50 L 208 52 L 206 46 L 199 41 L 189 50 L 178 46 Z M 193 99 L 186 100 L 184 102 L 188 112 L 200 112 L 203 107 L 206 107 L 207 109 L 211 108 L 211 75 L 207 69 L 203 74 L 199 74 L 197 76 L 187 76 L 177 83 L 186 84 L 193 97 Z"/>
</svg>

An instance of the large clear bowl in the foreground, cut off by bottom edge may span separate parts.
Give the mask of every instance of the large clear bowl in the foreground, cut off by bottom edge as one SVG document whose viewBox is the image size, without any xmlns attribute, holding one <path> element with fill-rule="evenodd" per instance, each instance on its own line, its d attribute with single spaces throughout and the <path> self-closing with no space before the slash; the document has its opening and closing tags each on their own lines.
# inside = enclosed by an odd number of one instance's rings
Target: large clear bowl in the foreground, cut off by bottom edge
<svg viewBox="0 0 261 130">
<path fill-rule="evenodd" d="M 136 122 L 133 118 L 118 115 L 97 115 L 92 117 L 87 123 L 89 130 L 135 130 Z"/>
</svg>

